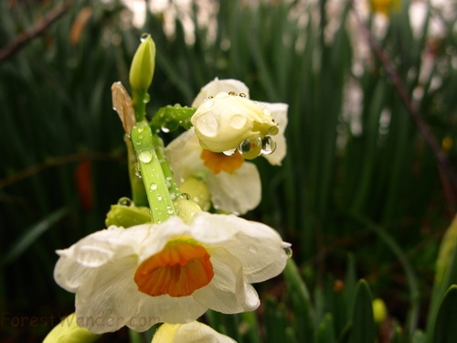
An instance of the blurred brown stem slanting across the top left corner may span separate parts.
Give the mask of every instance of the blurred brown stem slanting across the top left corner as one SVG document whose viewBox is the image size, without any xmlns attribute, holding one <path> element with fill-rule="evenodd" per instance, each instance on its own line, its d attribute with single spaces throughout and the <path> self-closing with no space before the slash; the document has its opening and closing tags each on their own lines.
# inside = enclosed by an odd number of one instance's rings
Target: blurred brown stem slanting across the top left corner
<svg viewBox="0 0 457 343">
<path fill-rule="evenodd" d="M 60 16 L 63 16 L 69 10 L 69 3 L 53 9 L 43 19 L 35 23 L 35 27 L 22 32 L 14 42 L 0 50 L 0 63 L 13 56 L 19 49 L 25 47 L 33 38 L 37 38 L 45 29 L 50 27 Z"/>
</svg>

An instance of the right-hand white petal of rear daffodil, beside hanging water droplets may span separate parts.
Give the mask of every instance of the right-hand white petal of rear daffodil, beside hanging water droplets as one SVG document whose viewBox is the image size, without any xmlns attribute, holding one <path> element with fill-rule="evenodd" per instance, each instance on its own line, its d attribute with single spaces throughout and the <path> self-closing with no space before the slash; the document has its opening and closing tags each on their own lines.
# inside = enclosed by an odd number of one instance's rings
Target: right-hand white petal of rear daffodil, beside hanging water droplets
<svg viewBox="0 0 457 343">
<path fill-rule="evenodd" d="M 276 142 L 276 150 L 270 155 L 264 155 L 264 157 L 273 166 L 281 166 L 282 159 L 287 154 L 287 143 L 285 139 L 285 129 L 287 127 L 287 109 L 289 107 L 286 103 L 267 103 L 261 102 L 271 111 L 271 116 L 274 121 L 278 124 L 279 133 L 273 136 Z"/>
</svg>

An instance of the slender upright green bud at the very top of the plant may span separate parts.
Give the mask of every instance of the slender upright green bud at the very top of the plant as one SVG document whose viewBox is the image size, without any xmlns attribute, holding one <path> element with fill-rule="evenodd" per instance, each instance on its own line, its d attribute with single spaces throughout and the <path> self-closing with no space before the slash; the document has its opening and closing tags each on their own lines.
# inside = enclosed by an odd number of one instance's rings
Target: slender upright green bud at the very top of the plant
<svg viewBox="0 0 457 343">
<path fill-rule="evenodd" d="M 153 81 L 155 68 L 155 44 L 150 35 L 144 34 L 133 56 L 130 68 L 132 91 L 146 92 Z"/>
</svg>

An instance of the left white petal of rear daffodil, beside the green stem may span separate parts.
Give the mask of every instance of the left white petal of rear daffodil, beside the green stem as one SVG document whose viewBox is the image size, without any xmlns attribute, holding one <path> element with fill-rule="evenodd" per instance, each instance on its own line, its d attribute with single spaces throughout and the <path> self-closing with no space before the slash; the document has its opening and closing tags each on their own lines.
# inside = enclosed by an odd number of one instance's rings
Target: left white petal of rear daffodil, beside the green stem
<svg viewBox="0 0 457 343">
<path fill-rule="evenodd" d="M 177 182 L 181 183 L 186 177 L 206 169 L 200 159 L 201 152 L 202 148 L 194 128 L 180 134 L 166 146 L 166 159 L 173 169 Z"/>
</svg>

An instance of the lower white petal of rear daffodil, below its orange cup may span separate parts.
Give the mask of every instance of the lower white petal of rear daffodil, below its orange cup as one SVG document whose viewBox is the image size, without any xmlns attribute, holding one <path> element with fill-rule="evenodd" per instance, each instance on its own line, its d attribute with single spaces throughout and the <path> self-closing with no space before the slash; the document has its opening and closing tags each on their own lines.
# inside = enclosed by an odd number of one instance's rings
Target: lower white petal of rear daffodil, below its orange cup
<svg viewBox="0 0 457 343">
<path fill-rule="evenodd" d="M 250 162 L 244 162 L 233 173 L 208 173 L 207 188 L 216 209 L 245 214 L 260 204 L 260 174 Z"/>
</svg>

